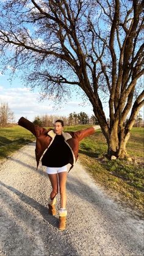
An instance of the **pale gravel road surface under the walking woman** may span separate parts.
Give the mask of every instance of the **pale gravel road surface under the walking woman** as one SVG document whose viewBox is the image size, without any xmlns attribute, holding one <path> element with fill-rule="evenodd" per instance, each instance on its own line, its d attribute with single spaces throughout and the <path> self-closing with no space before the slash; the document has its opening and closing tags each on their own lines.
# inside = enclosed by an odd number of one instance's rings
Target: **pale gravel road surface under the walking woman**
<svg viewBox="0 0 144 256">
<path fill-rule="evenodd" d="M 0 255 L 143 255 L 143 221 L 76 164 L 67 181 L 67 230 L 48 214 L 51 185 L 35 169 L 35 143 L 0 165 Z"/>
</svg>

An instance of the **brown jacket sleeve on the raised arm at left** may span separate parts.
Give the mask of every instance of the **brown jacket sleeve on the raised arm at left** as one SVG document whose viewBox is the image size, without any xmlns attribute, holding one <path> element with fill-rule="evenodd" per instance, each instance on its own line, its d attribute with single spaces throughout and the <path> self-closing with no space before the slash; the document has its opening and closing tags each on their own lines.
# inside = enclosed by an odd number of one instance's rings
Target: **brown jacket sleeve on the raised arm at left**
<svg viewBox="0 0 144 256">
<path fill-rule="evenodd" d="M 31 131 L 31 133 L 34 134 L 35 137 L 40 136 L 40 134 L 45 130 L 45 128 L 42 128 L 38 125 L 34 125 L 34 123 L 30 122 L 24 117 L 21 117 L 20 120 L 18 120 L 18 125 Z"/>
</svg>

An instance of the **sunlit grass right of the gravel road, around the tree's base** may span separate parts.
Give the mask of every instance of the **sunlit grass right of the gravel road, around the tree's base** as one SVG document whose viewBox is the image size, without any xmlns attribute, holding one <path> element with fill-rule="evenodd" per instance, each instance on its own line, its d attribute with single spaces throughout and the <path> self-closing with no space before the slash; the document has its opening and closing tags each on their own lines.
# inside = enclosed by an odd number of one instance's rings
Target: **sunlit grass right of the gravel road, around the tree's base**
<svg viewBox="0 0 144 256">
<path fill-rule="evenodd" d="M 132 162 L 109 161 L 106 139 L 100 130 L 80 144 L 80 160 L 96 182 L 112 192 L 118 192 L 123 202 L 143 212 L 143 128 L 133 128 L 127 144 Z"/>
</svg>

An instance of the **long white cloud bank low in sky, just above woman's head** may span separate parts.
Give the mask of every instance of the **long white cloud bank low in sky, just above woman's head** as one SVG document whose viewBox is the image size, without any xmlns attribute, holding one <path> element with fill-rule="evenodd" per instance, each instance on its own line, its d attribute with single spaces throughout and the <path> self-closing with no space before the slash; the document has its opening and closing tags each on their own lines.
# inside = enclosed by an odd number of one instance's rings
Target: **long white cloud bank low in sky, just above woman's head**
<svg viewBox="0 0 144 256">
<path fill-rule="evenodd" d="M 70 112 L 92 112 L 90 107 L 85 109 L 79 106 L 79 101 L 68 101 L 64 104 L 58 104 L 55 107 L 54 101 L 45 100 L 39 102 L 38 92 L 32 92 L 26 87 L 9 87 L 0 86 L 0 102 L 8 103 L 9 108 L 14 112 L 15 121 L 18 122 L 21 116 L 34 120 L 36 115 L 63 115 L 68 116 Z"/>
</svg>

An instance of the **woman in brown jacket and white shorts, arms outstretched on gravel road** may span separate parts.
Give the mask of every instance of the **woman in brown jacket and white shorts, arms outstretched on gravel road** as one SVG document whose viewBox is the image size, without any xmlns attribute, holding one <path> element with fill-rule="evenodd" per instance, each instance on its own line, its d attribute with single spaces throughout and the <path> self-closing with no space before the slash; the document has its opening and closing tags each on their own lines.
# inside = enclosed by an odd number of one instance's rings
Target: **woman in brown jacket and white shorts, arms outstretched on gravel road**
<svg viewBox="0 0 144 256">
<path fill-rule="evenodd" d="M 35 147 L 35 158 L 37 167 L 41 163 L 46 166 L 46 172 L 51 181 L 52 191 L 48 200 L 49 214 L 56 215 L 56 195 L 60 191 L 59 230 L 65 230 L 67 209 L 66 209 L 66 181 L 67 164 L 71 168 L 76 163 L 79 152 L 79 141 L 84 137 L 95 133 L 100 126 L 93 126 L 81 131 L 63 132 L 63 121 L 57 120 L 54 130 L 34 125 L 24 117 L 18 121 L 18 125 L 31 131 L 37 138 Z M 70 168 L 70 169 L 71 169 Z"/>
</svg>

